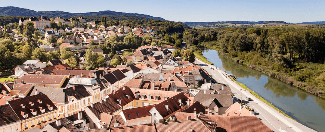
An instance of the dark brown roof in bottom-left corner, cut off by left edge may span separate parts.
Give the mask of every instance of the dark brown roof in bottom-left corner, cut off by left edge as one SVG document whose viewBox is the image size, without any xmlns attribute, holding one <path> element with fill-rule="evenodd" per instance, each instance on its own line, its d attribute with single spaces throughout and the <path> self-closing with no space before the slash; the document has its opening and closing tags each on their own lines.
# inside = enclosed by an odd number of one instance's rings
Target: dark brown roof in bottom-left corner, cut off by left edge
<svg viewBox="0 0 325 132">
<path fill-rule="evenodd" d="M 18 116 L 11 109 L 9 104 L 0 105 L 0 110 L 0 126 L 20 122 Z"/>
</svg>

